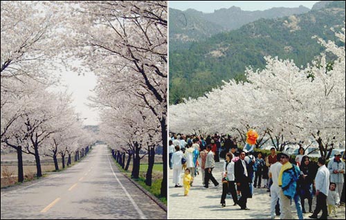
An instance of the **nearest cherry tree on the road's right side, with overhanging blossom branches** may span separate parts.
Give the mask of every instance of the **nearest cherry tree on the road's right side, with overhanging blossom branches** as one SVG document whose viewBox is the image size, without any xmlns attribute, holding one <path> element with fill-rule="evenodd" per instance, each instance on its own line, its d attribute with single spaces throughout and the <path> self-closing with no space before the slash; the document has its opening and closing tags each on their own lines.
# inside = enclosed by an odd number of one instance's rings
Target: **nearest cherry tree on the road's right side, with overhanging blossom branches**
<svg viewBox="0 0 346 220">
<path fill-rule="evenodd" d="M 144 105 L 155 116 L 163 145 L 161 195 L 166 196 L 166 2 L 78 1 L 73 7 L 71 26 L 78 29 L 73 31 L 71 43 L 78 47 L 75 55 L 98 75 L 99 94 L 109 96 L 112 91 L 119 96 L 115 91 L 121 91 L 134 95 L 142 100 L 138 108 Z M 110 105 L 107 99 L 104 106 Z"/>
</svg>

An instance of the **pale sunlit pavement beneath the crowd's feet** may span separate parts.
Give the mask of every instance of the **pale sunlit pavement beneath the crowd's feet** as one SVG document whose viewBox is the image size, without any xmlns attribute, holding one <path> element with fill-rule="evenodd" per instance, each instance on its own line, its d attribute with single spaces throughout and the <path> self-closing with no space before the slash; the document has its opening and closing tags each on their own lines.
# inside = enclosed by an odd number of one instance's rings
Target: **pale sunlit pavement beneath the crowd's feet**
<svg viewBox="0 0 346 220">
<path fill-rule="evenodd" d="M 271 197 L 264 188 L 255 188 L 253 198 L 248 199 L 247 206 L 250 210 L 240 210 L 239 205 L 233 206 L 233 200 L 230 196 L 226 197 L 226 207 L 221 208 L 221 172 L 224 162 L 215 163 L 213 175 L 220 183 L 215 188 L 211 183 L 208 189 L 202 185 L 201 172 L 194 178 L 193 186 L 190 188 L 188 196 L 184 196 L 184 188 L 174 187 L 172 183 L 173 172 L 169 169 L 169 198 L 168 198 L 168 218 L 169 219 L 270 219 L 270 201 Z M 181 172 L 183 176 L 183 172 Z M 181 180 L 181 185 L 183 181 Z M 262 181 L 263 185 L 263 181 Z M 308 208 L 307 199 L 305 207 Z M 313 210 L 316 205 L 315 197 L 313 199 Z M 291 205 L 292 216 L 298 219 L 294 202 Z M 329 219 L 345 219 L 345 206 L 337 209 L 338 218 L 329 217 Z M 322 212 L 320 212 L 322 214 Z M 320 217 L 319 214 L 319 217 Z M 309 219 L 311 213 L 303 214 L 304 219 Z M 280 217 L 275 217 L 280 219 Z"/>
</svg>

